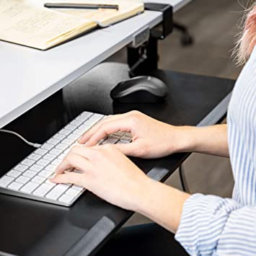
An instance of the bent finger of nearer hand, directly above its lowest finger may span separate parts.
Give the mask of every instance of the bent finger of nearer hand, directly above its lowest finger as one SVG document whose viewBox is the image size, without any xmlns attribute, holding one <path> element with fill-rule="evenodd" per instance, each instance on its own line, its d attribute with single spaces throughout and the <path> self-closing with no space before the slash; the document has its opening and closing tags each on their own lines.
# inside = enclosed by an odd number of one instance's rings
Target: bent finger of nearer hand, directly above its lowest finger
<svg viewBox="0 0 256 256">
<path fill-rule="evenodd" d="M 80 156 L 79 154 L 69 153 L 64 157 L 61 164 L 55 170 L 56 174 L 60 174 L 66 171 L 66 169 L 76 168 L 80 170 L 86 170 L 90 167 L 88 159 Z"/>
</svg>

